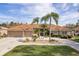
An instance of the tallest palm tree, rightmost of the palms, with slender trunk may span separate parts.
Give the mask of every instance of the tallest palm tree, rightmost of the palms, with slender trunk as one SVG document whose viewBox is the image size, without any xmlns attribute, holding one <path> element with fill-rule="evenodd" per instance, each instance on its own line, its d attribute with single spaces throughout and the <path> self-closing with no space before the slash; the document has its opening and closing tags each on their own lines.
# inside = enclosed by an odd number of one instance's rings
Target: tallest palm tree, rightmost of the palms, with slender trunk
<svg viewBox="0 0 79 59">
<path fill-rule="evenodd" d="M 54 13 L 54 12 L 51 12 L 50 14 L 47 14 L 46 16 L 46 19 L 49 20 L 49 41 L 51 39 L 51 21 L 52 21 L 52 18 L 53 20 L 55 21 L 56 25 L 58 25 L 58 19 L 59 19 L 59 15 L 57 13 Z"/>
</svg>

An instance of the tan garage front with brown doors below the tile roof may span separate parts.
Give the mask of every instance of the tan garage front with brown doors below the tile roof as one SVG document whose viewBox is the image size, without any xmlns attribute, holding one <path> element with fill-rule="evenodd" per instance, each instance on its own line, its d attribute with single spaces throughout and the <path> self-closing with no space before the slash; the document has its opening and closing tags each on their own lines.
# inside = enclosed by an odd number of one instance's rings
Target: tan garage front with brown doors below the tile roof
<svg viewBox="0 0 79 59">
<path fill-rule="evenodd" d="M 8 37 L 30 37 L 32 31 L 8 31 Z"/>
</svg>

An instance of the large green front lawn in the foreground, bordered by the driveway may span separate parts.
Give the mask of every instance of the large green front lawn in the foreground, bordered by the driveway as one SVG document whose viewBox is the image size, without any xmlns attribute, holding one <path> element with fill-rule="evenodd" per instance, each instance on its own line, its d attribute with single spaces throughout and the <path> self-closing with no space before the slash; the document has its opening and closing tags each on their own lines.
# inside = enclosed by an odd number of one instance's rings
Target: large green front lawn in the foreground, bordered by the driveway
<svg viewBox="0 0 79 59">
<path fill-rule="evenodd" d="M 79 56 L 79 52 L 68 46 L 21 45 L 4 56 Z"/>
</svg>

